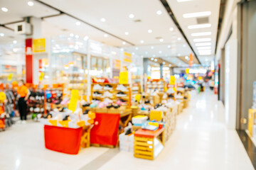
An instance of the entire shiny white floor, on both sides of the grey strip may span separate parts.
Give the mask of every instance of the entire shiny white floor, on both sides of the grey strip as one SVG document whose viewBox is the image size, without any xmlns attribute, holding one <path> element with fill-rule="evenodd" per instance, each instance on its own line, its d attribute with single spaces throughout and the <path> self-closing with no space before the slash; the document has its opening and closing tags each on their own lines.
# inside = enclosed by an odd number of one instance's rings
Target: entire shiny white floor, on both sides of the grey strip
<svg viewBox="0 0 256 170">
<path fill-rule="evenodd" d="M 44 147 L 43 125 L 14 125 L 0 132 L 0 169 L 80 169 L 107 150 L 90 147 L 78 155 L 53 152 Z M 223 105 L 206 91 L 193 96 L 178 115 L 176 131 L 154 161 L 119 152 L 100 169 L 250 170 L 253 166 L 235 130 L 225 128 Z"/>
</svg>

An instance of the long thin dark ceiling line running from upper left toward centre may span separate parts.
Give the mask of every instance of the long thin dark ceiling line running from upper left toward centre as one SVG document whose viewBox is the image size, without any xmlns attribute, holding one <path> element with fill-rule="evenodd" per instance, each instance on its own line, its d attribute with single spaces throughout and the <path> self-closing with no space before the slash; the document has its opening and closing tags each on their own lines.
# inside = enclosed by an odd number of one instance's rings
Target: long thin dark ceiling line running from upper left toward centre
<svg viewBox="0 0 256 170">
<path fill-rule="evenodd" d="M 111 36 L 114 37 L 114 38 L 117 38 L 117 39 L 119 39 L 119 40 L 122 40 L 122 41 L 127 42 L 127 43 L 129 43 L 130 45 L 133 45 L 133 46 L 134 46 L 134 43 L 129 42 L 129 41 L 127 41 L 127 40 L 124 40 L 124 39 L 122 39 L 122 38 L 119 38 L 117 35 L 114 35 L 114 34 L 112 34 L 112 33 L 109 33 L 109 32 L 107 32 L 106 30 L 102 30 L 101 28 L 98 28 L 97 26 L 94 26 L 94 25 L 92 25 L 91 23 L 87 23 L 86 21 L 83 21 L 82 19 L 80 19 L 80 18 L 78 18 L 78 17 L 76 17 L 76 16 L 73 16 L 73 15 L 71 15 L 70 13 L 66 13 L 66 12 L 64 12 L 64 11 L 61 11 L 60 9 L 55 8 L 54 6 L 50 6 L 49 4 L 44 3 L 43 1 L 39 1 L 39 0 L 34 0 L 34 1 L 38 1 L 40 4 L 43 4 L 44 6 L 48 6 L 49 8 L 53 8 L 53 9 L 55 9 L 56 11 L 59 11 L 60 13 L 63 13 L 63 14 L 65 14 L 65 15 L 67 15 L 67 16 L 70 16 L 71 18 L 74 18 L 74 19 L 76 19 L 76 20 L 78 20 L 78 21 L 80 21 L 80 22 L 82 22 L 82 23 L 85 23 L 85 24 L 87 24 L 88 26 L 91 26 L 92 28 L 95 28 L 95 29 L 97 29 L 97 30 L 100 30 L 100 31 L 102 31 L 103 33 L 107 33 L 108 35 L 111 35 Z"/>
</svg>

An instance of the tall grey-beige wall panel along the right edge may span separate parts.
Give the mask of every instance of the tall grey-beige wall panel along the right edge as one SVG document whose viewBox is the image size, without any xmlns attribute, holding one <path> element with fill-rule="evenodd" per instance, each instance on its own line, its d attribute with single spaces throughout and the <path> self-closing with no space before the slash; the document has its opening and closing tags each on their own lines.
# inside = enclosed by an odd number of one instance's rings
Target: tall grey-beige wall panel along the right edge
<svg viewBox="0 0 256 170">
<path fill-rule="evenodd" d="M 252 107 L 253 81 L 256 81 L 256 1 L 246 1 L 239 5 L 238 16 L 238 40 L 240 66 L 240 91 L 241 96 L 238 116 L 248 120 L 248 109 Z M 247 129 L 247 123 L 237 122 L 237 129 Z"/>
</svg>

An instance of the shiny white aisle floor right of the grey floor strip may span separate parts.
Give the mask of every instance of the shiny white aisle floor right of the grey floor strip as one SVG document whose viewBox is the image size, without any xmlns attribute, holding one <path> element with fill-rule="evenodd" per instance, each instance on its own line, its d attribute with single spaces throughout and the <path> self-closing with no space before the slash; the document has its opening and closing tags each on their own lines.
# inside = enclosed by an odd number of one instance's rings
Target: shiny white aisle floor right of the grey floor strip
<svg viewBox="0 0 256 170">
<path fill-rule="evenodd" d="M 212 91 L 195 95 L 154 161 L 119 152 L 100 169 L 254 169 L 235 130 L 224 125 L 224 108 Z"/>
</svg>

